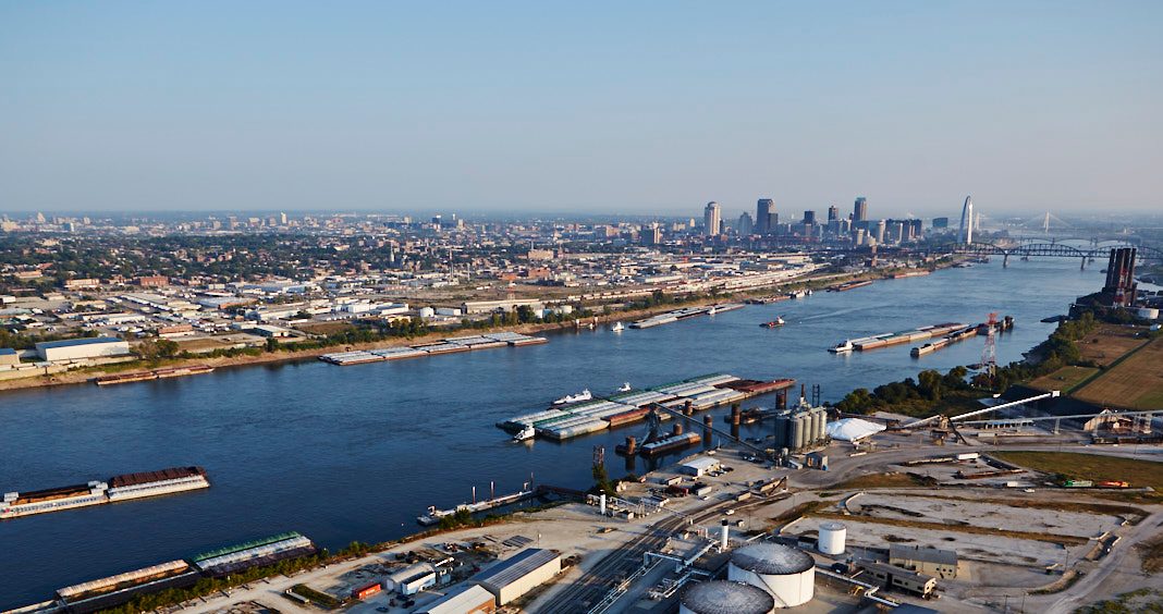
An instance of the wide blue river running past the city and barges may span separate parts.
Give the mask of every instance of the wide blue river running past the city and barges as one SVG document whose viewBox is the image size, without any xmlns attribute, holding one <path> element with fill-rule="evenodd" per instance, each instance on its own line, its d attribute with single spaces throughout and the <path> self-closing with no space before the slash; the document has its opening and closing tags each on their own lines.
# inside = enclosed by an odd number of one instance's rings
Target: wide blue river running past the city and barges
<svg viewBox="0 0 1163 614">
<path fill-rule="evenodd" d="M 184 558 L 213 547 L 299 530 L 335 549 L 418 530 L 428 505 L 449 507 L 537 483 L 588 486 L 594 445 L 607 466 L 634 424 L 564 444 L 508 442 L 493 424 L 584 387 L 612 393 L 711 372 L 791 377 L 836 401 L 980 359 L 971 338 L 920 359 L 911 345 L 836 356 L 846 337 L 944 321 L 1013 315 L 999 363 L 1021 358 L 1076 297 L 1103 284 L 1073 259 L 949 269 L 843 293 L 704 316 L 647 330 L 606 328 L 550 342 L 340 367 L 317 360 L 98 388 L 0 394 L 0 491 L 36 490 L 174 465 L 206 467 L 209 490 L 0 522 L 0 608 L 74 583 Z M 787 326 L 759 328 L 780 314 Z M 744 402 L 769 405 L 770 398 Z M 725 409 L 715 409 L 722 424 Z M 757 433 L 759 427 L 745 427 Z M 638 470 L 642 460 L 638 459 Z"/>
</svg>

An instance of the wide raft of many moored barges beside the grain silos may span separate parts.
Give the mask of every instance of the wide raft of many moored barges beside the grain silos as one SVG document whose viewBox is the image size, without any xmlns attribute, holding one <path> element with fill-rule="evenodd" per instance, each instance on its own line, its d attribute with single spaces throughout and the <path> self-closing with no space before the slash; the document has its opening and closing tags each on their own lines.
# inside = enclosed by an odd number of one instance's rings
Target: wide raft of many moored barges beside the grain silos
<svg viewBox="0 0 1163 614">
<path fill-rule="evenodd" d="M 564 441 L 643 421 L 655 405 L 676 410 L 690 407 L 693 412 L 702 412 L 759 394 L 786 391 L 794 384 L 794 379 L 764 381 L 742 379 L 728 373 L 711 373 L 607 398 L 551 407 L 511 417 L 497 426 L 508 431 L 519 431 L 531 426 L 537 437 Z M 662 412 L 661 417 L 669 420 L 670 414 Z"/>
</svg>

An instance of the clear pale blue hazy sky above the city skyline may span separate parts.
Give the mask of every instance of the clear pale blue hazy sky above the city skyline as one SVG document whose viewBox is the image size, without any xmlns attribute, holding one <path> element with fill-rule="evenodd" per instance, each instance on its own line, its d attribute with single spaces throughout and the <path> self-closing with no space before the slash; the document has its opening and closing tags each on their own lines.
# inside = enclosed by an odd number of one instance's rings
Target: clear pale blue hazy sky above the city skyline
<svg viewBox="0 0 1163 614">
<path fill-rule="evenodd" d="M 1163 209 L 1163 2 L 0 1 L 0 213 Z"/>
</svg>

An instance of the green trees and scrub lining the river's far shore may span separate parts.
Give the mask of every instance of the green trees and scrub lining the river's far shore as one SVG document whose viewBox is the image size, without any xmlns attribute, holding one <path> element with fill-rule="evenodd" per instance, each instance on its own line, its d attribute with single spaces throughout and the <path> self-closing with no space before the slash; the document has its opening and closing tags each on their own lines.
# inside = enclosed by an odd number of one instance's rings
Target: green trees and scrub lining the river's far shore
<svg viewBox="0 0 1163 614">
<path fill-rule="evenodd" d="M 943 259 L 936 263 L 930 263 L 925 267 L 925 270 L 936 271 L 940 269 L 947 269 L 955 262 L 957 260 Z M 609 305 L 599 305 L 584 310 L 575 310 L 573 314 L 548 322 L 530 321 L 531 312 L 522 314 L 520 310 L 509 312 L 505 315 L 494 314 L 492 320 L 479 322 L 469 322 L 465 320 L 461 326 L 456 327 L 428 327 L 419 319 L 413 319 L 411 321 L 393 323 L 384 322 L 381 326 L 376 327 L 349 328 L 343 333 L 319 335 L 316 338 L 308 337 L 307 340 L 297 343 L 279 344 L 276 340 L 267 340 L 265 347 L 221 349 L 208 354 L 180 352 L 180 345 L 177 342 L 170 340 L 148 338 L 135 345 L 135 352 L 138 356 L 138 359 L 136 360 L 88 366 L 60 373 L 2 380 L 0 381 L 0 393 L 9 390 L 88 384 L 93 379 L 101 376 L 133 371 L 148 371 L 159 367 L 207 365 L 214 369 L 233 369 L 250 365 L 299 363 L 317 359 L 324 354 L 335 351 L 372 350 L 400 345 L 413 345 L 418 343 L 438 341 L 458 334 L 472 334 L 475 331 L 504 330 L 525 335 L 566 331 L 575 330 L 579 326 L 579 322 L 583 324 L 594 323 L 597 326 L 618 320 L 638 320 L 680 307 L 706 306 L 715 302 L 722 302 L 725 300 L 742 300 L 751 297 L 763 297 L 804 288 L 821 290 L 843 281 L 892 279 L 892 273 L 907 270 L 913 269 L 887 269 L 854 274 L 821 272 L 818 274 L 809 274 L 800 279 L 791 279 L 772 286 L 749 288 L 733 293 L 716 292 L 709 294 L 666 294 L 662 291 L 655 291 L 654 294 L 649 297 L 627 301 L 622 304 L 621 308 L 618 309 L 611 308 L 612 306 Z"/>
</svg>

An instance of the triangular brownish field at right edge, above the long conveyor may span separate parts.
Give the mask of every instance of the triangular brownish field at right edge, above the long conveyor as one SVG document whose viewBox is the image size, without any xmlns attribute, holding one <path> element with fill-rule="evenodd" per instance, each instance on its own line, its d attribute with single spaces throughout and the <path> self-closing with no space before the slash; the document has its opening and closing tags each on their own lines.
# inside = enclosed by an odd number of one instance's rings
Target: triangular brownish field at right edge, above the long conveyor
<svg viewBox="0 0 1163 614">
<path fill-rule="evenodd" d="M 1112 366 L 1072 397 L 1114 407 L 1163 408 L 1163 337 Z"/>
</svg>

